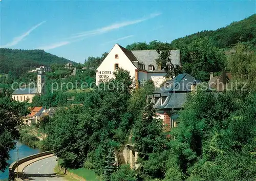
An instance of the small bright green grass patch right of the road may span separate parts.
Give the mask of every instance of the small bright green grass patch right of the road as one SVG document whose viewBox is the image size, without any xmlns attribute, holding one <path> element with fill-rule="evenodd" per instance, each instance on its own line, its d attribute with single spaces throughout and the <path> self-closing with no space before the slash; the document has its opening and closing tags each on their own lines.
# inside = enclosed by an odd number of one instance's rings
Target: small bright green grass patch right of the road
<svg viewBox="0 0 256 181">
<path fill-rule="evenodd" d="M 79 168 L 79 169 L 70 169 L 69 171 L 80 177 L 83 177 L 86 180 L 99 181 L 98 176 L 93 170 L 86 169 L 86 168 Z"/>
</svg>

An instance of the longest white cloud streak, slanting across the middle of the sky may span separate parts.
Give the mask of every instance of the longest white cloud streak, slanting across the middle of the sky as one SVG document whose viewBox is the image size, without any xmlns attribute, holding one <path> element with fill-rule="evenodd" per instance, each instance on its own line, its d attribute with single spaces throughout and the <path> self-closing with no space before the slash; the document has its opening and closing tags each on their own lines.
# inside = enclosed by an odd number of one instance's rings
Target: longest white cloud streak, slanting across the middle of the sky
<svg viewBox="0 0 256 181">
<path fill-rule="evenodd" d="M 159 16 L 159 15 L 161 15 L 161 13 L 154 13 L 154 14 L 151 14 L 150 16 L 148 16 L 148 17 L 145 17 L 145 18 L 119 22 L 117 24 L 102 27 L 102 28 L 99 28 L 99 29 L 96 29 L 96 30 L 77 33 L 75 36 L 72 36 L 71 38 L 79 38 L 79 37 L 85 37 L 85 36 L 90 36 L 90 35 L 97 35 L 97 34 L 106 33 L 106 32 L 109 32 L 111 30 L 119 29 L 121 27 L 126 27 L 126 26 L 129 26 L 129 25 L 138 24 L 139 22 L 145 21 L 147 19 L 154 18 L 154 17 Z"/>
</svg>

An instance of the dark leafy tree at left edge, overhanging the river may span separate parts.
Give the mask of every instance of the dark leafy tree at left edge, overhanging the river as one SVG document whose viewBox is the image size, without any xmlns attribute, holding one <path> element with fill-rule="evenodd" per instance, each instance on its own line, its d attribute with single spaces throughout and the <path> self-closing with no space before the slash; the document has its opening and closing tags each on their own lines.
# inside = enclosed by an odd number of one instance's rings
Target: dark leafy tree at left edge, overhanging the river
<svg viewBox="0 0 256 181">
<path fill-rule="evenodd" d="M 17 126 L 22 124 L 23 116 L 29 114 L 26 104 L 0 95 L 0 171 L 2 172 L 8 166 L 9 151 L 15 148 L 14 140 L 19 137 Z"/>
</svg>

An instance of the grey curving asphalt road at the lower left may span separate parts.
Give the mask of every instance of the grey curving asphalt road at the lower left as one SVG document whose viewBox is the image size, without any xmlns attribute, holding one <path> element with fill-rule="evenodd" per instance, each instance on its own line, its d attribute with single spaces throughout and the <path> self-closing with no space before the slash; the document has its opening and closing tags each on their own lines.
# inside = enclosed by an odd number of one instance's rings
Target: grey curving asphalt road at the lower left
<svg viewBox="0 0 256 181">
<path fill-rule="evenodd" d="M 63 180 L 60 177 L 56 177 L 54 174 L 54 167 L 57 165 L 55 156 L 48 157 L 47 159 L 42 159 L 36 161 L 23 170 L 26 175 L 26 178 L 29 180 Z"/>
</svg>

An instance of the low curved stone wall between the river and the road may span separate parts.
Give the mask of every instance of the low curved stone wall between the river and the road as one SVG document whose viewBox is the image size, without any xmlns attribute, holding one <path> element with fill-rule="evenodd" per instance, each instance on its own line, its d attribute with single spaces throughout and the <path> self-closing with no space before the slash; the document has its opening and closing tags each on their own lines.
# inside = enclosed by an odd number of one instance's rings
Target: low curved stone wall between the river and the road
<svg viewBox="0 0 256 181">
<path fill-rule="evenodd" d="M 18 161 L 18 165 L 23 164 L 23 163 L 25 163 L 27 161 L 30 161 L 32 159 L 36 159 L 38 157 L 46 156 L 46 155 L 49 155 L 49 154 L 52 154 L 52 153 L 53 153 L 52 151 L 46 151 L 46 152 L 42 152 L 42 153 L 38 153 L 38 154 L 33 154 L 33 155 L 30 155 L 30 156 L 27 156 L 27 157 L 25 157 L 23 159 L 20 159 Z M 8 179 L 9 181 L 15 180 L 15 173 L 14 173 L 14 171 L 15 171 L 16 167 L 17 167 L 17 162 L 13 162 L 10 165 L 10 167 L 9 167 L 9 179 Z"/>
</svg>

